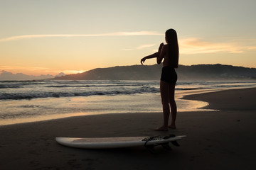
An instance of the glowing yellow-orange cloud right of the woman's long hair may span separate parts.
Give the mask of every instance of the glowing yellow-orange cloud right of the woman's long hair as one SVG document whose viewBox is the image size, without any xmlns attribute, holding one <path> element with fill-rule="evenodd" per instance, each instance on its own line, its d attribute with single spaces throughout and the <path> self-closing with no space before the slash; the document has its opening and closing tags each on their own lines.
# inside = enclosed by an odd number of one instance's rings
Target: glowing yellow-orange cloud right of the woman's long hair
<svg viewBox="0 0 256 170">
<path fill-rule="evenodd" d="M 184 38 L 178 40 L 181 54 L 205 54 L 205 53 L 242 53 L 245 50 L 255 50 L 256 46 L 244 45 L 242 41 L 236 42 L 208 42 L 202 38 Z"/>
</svg>

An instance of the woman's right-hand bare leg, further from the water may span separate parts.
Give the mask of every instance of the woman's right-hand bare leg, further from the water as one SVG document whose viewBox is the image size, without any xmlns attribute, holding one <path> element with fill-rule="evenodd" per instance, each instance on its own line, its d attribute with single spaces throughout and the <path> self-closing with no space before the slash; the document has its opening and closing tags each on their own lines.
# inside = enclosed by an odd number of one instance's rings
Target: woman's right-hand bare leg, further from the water
<svg viewBox="0 0 256 170">
<path fill-rule="evenodd" d="M 171 106 L 171 125 L 169 125 L 169 128 L 176 129 L 176 115 L 177 115 L 177 106 L 175 102 L 175 84 L 169 84 L 169 103 Z"/>
</svg>

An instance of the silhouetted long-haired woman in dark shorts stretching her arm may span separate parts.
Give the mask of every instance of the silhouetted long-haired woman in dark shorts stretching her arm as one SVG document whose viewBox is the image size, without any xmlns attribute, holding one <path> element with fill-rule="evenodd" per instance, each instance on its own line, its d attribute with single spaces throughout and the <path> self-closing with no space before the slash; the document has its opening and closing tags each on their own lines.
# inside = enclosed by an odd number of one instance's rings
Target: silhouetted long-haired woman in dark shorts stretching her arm
<svg viewBox="0 0 256 170">
<path fill-rule="evenodd" d="M 161 103 L 163 105 L 164 124 L 157 128 L 157 131 L 166 131 L 168 128 L 176 129 L 176 114 L 177 106 L 174 99 L 175 84 L 177 81 L 177 74 L 174 68 L 178 68 L 178 38 L 176 30 L 166 30 L 166 42 L 167 45 L 161 43 L 159 51 L 153 55 L 142 58 L 143 64 L 146 59 L 156 58 L 157 64 L 160 64 L 164 59 L 163 68 L 161 72 L 160 91 L 161 91 Z M 169 115 L 171 108 L 171 124 L 168 125 Z"/>
</svg>

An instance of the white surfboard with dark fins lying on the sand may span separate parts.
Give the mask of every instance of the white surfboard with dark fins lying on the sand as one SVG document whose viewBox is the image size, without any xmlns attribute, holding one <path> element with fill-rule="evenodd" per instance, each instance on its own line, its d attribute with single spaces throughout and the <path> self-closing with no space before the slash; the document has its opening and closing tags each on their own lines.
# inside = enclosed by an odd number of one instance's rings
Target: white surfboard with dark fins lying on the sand
<svg viewBox="0 0 256 170">
<path fill-rule="evenodd" d="M 186 136 L 154 136 L 154 137 L 56 137 L 60 145 L 84 149 L 114 149 L 122 147 L 139 147 L 154 145 L 169 145 L 169 142 L 178 146 L 177 140 Z"/>
</svg>

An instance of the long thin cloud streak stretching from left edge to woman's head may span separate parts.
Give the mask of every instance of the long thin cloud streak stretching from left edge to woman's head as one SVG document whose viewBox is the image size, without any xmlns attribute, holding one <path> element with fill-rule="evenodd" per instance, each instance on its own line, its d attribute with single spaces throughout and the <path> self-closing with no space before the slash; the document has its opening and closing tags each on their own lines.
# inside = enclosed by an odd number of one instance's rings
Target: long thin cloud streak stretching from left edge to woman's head
<svg viewBox="0 0 256 170">
<path fill-rule="evenodd" d="M 1 38 L 0 42 L 7 42 L 12 40 L 23 40 L 31 38 L 73 38 L 73 37 L 105 37 L 105 36 L 136 36 L 136 35 L 163 35 L 156 31 L 135 31 L 135 32 L 116 32 L 116 33 L 102 33 L 102 34 L 39 34 L 39 35 L 18 35 L 9 38 Z"/>
</svg>

